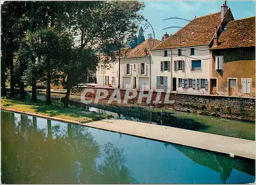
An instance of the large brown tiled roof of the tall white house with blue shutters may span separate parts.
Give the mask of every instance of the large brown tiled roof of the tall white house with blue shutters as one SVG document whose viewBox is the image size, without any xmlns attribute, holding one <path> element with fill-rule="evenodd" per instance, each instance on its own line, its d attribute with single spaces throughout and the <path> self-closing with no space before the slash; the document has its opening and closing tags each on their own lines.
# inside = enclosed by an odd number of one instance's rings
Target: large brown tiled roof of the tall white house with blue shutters
<svg viewBox="0 0 256 185">
<path fill-rule="evenodd" d="M 208 45 L 215 34 L 215 27 L 219 26 L 221 21 L 221 12 L 197 17 L 174 35 L 169 36 L 154 50 Z"/>
</svg>

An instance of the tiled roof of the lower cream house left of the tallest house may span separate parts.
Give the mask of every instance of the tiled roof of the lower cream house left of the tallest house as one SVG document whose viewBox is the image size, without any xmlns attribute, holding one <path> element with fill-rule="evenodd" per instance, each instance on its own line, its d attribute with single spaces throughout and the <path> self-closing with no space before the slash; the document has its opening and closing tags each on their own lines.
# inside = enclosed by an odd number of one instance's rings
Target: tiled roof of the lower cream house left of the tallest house
<svg viewBox="0 0 256 185">
<path fill-rule="evenodd" d="M 155 48 L 159 43 L 161 43 L 161 41 L 157 39 L 146 39 L 141 44 L 137 45 L 133 50 L 131 50 L 127 54 L 126 58 L 148 56 L 150 51 Z M 144 52 L 145 49 L 147 50 L 147 52 Z"/>
</svg>

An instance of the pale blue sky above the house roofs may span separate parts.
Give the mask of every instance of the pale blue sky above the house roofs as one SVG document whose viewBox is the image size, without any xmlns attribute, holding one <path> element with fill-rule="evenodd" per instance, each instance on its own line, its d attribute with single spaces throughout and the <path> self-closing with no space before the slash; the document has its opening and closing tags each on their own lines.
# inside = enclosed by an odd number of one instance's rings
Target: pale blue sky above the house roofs
<svg viewBox="0 0 256 185">
<path fill-rule="evenodd" d="M 180 17 L 192 20 L 195 16 L 203 16 L 221 11 L 223 1 L 142 1 L 145 8 L 142 12 L 144 18 L 152 25 L 155 38 L 161 40 L 163 34 L 174 34 L 179 28 L 163 30 L 170 26 L 183 27 L 188 21 L 180 19 L 165 20 L 169 17 Z M 231 9 L 234 19 L 241 19 L 255 16 L 254 1 L 227 1 L 227 6 Z M 143 26 L 143 24 L 142 24 Z M 146 28 L 146 27 L 145 27 Z M 151 28 L 144 29 L 144 37 L 153 33 Z"/>
</svg>

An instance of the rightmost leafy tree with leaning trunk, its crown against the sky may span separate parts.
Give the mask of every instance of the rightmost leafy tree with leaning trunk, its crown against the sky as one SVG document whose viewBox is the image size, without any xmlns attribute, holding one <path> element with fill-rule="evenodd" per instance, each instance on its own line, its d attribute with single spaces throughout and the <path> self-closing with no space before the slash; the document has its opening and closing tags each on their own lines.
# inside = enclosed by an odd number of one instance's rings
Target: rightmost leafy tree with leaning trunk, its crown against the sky
<svg viewBox="0 0 256 185">
<path fill-rule="evenodd" d="M 105 45 L 114 43 L 119 38 L 129 34 L 135 34 L 138 21 L 142 18 L 139 11 L 143 3 L 133 2 L 70 2 L 72 18 L 71 31 L 80 37 L 80 45 L 74 50 L 73 58 L 67 74 L 67 94 L 63 102 L 67 106 L 74 71 L 77 67 L 76 60 L 84 49 L 91 50 L 95 45 L 104 48 Z M 108 11 L 105 11 L 108 10 Z M 121 21 L 120 21 L 121 20 Z M 79 33 L 77 30 L 79 29 Z"/>
</svg>

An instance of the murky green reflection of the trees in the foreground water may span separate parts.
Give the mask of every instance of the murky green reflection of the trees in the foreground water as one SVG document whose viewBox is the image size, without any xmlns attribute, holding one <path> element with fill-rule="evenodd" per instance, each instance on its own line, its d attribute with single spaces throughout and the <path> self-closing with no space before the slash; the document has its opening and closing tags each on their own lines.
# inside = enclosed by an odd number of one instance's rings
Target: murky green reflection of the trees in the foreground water
<svg viewBox="0 0 256 185">
<path fill-rule="evenodd" d="M 68 124 L 65 133 L 48 120 L 45 132 L 26 115 L 21 115 L 20 129 L 14 113 L 2 111 L 1 119 L 2 183 L 136 182 L 123 151 L 111 143 L 100 146 L 87 127 Z M 104 161 L 96 165 L 100 156 Z"/>
</svg>

